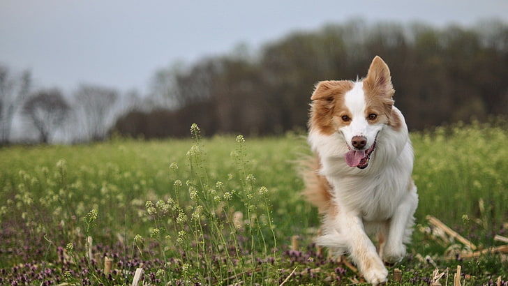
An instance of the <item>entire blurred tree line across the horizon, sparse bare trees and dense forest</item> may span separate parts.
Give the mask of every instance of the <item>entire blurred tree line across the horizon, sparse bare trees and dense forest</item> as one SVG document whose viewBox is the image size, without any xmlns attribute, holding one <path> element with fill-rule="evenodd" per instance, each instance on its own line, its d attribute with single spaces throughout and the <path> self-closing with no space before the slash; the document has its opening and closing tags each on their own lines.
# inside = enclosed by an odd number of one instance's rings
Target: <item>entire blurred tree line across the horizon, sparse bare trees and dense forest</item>
<svg viewBox="0 0 508 286">
<path fill-rule="evenodd" d="M 204 135 L 304 129 L 314 85 L 356 80 L 375 55 L 389 65 L 396 106 L 411 130 L 508 113 L 504 22 L 432 27 L 352 20 L 290 33 L 255 52 L 239 45 L 229 54 L 173 63 L 156 70 L 142 96 L 94 84 L 72 94 L 34 89 L 29 71 L 0 65 L 0 145 L 12 141 L 16 114 L 43 143 L 57 134 L 66 142 L 111 133 L 188 137 L 192 123 Z"/>
</svg>

